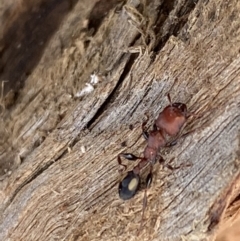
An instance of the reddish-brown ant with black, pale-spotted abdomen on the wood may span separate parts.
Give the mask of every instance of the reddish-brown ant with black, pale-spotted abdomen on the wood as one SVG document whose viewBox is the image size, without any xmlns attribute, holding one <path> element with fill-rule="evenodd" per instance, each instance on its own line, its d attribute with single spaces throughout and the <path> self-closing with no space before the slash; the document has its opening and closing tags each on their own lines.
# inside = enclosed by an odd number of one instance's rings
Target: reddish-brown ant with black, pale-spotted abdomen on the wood
<svg viewBox="0 0 240 241">
<path fill-rule="evenodd" d="M 171 97 L 167 95 L 170 105 L 165 107 L 162 112 L 158 115 L 158 118 L 153 124 L 153 129 L 147 132 L 145 126 L 147 121 L 142 123 L 142 134 L 147 140 L 147 146 L 143 151 L 143 157 L 137 157 L 131 153 L 121 153 L 118 155 L 118 163 L 126 169 L 126 165 L 122 164 L 121 157 L 129 161 L 140 160 L 132 171 L 129 171 L 126 177 L 119 184 L 119 196 L 123 200 L 132 198 L 139 189 L 140 186 L 140 171 L 147 165 L 150 164 L 150 171 L 146 178 L 146 188 L 143 199 L 143 211 L 142 220 L 144 217 L 144 211 L 147 206 L 147 189 L 152 183 L 152 169 L 153 165 L 157 161 L 158 153 L 160 148 L 169 146 L 167 145 L 167 136 L 177 136 L 188 119 L 187 106 L 183 103 L 172 103 Z M 170 146 L 174 145 L 170 144 Z M 162 163 L 164 159 L 159 156 L 158 161 Z M 168 168 L 174 169 L 170 165 Z M 142 221 L 141 221 L 142 222 Z M 141 224 L 142 226 L 142 224 Z"/>
</svg>

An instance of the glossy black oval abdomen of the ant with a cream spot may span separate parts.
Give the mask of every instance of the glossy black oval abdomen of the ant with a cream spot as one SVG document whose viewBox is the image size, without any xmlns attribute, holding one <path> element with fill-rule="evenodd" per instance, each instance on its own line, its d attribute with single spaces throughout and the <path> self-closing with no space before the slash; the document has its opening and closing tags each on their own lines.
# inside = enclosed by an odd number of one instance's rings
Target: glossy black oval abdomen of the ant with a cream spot
<svg viewBox="0 0 240 241">
<path fill-rule="evenodd" d="M 119 196 L 123 200 L 132 198 L 140 184 L 140 177 L 138 174 L 135 174 L 133 171 L 128 172 L 127 176 L 119 184 Z"/>
</svg>

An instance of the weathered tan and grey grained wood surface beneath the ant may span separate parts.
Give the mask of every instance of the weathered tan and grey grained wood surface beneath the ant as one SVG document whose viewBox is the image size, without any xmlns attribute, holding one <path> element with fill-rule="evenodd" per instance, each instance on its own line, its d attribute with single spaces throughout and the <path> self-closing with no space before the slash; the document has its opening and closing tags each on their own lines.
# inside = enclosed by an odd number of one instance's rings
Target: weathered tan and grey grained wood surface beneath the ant
<svg viewBox="0 0 240 241">
<path fill-rule="evenodd" d="M 239 194 L 240 3 L 109 1 L 101 15 L 106 2 L 69 1 L 36 67 L 18 69 L 16 102 L 2 100 L 0 240 L 213 240 Z M 142 154 L 141 122 L 167 93 L 199 118 L 162 154 L 191 166 L 156 165 L 137 237 L 143 192 L 119 199 L 116 157 Z"/>
</svg>

